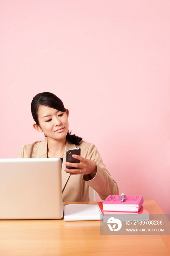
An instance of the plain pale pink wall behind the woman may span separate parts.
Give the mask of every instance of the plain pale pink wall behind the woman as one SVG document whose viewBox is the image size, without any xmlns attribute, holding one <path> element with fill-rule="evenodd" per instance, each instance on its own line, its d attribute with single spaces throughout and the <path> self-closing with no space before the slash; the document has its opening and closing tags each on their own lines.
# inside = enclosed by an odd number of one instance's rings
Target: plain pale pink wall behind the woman
<svg viewBox="0 0 170 256">
<path fill-rule="evenodd" d="M 170 213 L 169 14 L 169 0 L 1 0 L 0 158 L 44 138 L 30 105 L 50 91 L 120 194 Z"/>
</svg>

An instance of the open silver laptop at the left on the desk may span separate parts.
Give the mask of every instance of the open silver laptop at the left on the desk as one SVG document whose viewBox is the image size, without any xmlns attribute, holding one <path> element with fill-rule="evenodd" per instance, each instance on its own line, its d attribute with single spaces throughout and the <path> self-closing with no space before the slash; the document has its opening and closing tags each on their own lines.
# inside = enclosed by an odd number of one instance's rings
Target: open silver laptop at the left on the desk
<svg viewBox="0 0 170 256">
<path fill-rule="evenodd" d="M 62 217 L 60 159 L 0 159 L 0 219 Z"/>
</svg>

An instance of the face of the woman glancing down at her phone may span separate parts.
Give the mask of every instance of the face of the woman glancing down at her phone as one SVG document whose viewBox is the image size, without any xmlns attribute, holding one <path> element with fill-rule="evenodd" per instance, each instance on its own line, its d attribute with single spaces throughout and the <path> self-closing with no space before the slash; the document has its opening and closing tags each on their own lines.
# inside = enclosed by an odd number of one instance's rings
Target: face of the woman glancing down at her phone
<svg viewBox="0 0 170 256">
<path fill-rule="evenodd" d="M 33 124 L 33 127 L 39 132 L 44 132 L 51 139 L 65 139 L 69 129 L 69 111 L 66 111 L 61 112 L 57 109 L 40 105 L 38 108 L 39 125 L 35 127 L 35 124 Z"/>
</svg>

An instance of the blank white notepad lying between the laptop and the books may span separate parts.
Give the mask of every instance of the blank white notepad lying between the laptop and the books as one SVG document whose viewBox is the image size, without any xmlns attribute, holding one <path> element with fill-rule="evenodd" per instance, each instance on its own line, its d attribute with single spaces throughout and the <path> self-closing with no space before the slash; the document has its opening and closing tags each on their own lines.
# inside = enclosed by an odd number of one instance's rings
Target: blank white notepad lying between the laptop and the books
<svg viewBox="0 0 170 256">
<path fill-rule="evenodd" d="M 97 204 L 67 204 L 64 207 L 65 221 L 95 221 L 100 220 Z"/>
</svg>

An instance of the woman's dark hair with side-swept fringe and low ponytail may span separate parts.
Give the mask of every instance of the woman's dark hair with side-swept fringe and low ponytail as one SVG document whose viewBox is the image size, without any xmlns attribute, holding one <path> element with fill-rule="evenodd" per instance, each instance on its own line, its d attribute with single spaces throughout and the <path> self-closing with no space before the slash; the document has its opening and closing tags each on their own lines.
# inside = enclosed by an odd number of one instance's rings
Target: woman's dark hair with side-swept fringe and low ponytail
<svg viewBox="0 0 170 256">
<path fill-rule="evenodd" d="M 62 112 L 66 112 L 66 109 L 63 105 L 62 100 L 59 99 L 55 94 L 48 93 L 48 92 L 38 93 L 35 95 L 35 97 L 32 99 L 32 102 L 31 102 L 32 117 L 37 125 L 39 125 L 39 120 L 38 120 L 39 105 L 47 106 Z M 71 135 L 71 132 L 70 133 L 69 131 L 67 132 L 67 135 L 66 135 L 67 142 L 80 145 L 82 138 L 76 136 L 75 134 Z"/>
</svg>

